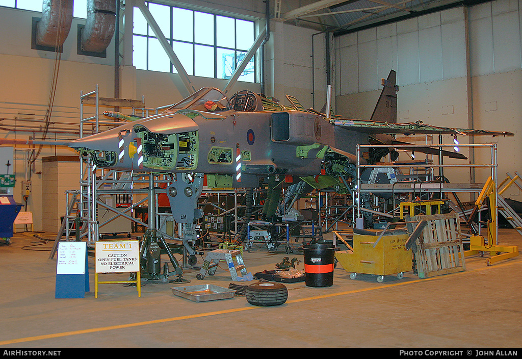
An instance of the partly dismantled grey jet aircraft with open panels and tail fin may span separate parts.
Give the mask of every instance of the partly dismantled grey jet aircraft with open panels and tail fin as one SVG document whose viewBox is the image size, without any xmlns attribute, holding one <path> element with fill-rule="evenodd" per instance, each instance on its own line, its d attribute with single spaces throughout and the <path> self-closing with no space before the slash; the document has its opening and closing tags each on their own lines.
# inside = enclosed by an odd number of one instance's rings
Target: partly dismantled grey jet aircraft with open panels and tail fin
<svg viewBox="0 0 522 359">
<path fill-rule="evenodd" d="M 192 223 L 186 211 L 198 195 L 203 176 L 186 179 L 183 174 L 206 174 L 210 187 L 256 188 L 259 178 L 320 174 L 353 175 L 356 146 L 379 144 L 360 158 L 373 164 L 407 143 L 395 134 L 450 134 L 513 136 L 512 133 L 446 128 L 422 123 L 397 123 L 396 72 L 382 80 L 383 89 L 370 120 L 339 118 L 326 111 L 305 109 L 287 95 L 290 105 L 251 91 L 230 99 L 216 88 L 202 88 L 162 113 L 125 123 L 67 143 L 102 168 L 135 173 L 182 174 L 167 195 L 176 222 Z M 411 150 L 411 148 L 410 148 Z M 414 148 L 438 154 L 438 149 Z M 443 155 L 466 159 L 460 153 Z M 200 189 L 199 189 L 200 192 Z M 187 201 L 184 201 L 187 200 Z M 183 210 L 180 210 L 183 208 Z"/>
</svg>

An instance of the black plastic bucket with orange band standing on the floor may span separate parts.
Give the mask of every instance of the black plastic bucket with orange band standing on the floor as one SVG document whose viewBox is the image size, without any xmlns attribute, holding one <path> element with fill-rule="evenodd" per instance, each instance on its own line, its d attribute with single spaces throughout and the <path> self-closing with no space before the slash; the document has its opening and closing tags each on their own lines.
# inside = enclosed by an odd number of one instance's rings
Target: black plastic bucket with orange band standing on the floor
<svg viewBox="0 0 522 359">
<path fill-rule="evenodd" d="M 321 287 L 334 284 L 335 246 L 309 244 L 303 246 L 304 274 L 307 286 Z"/>
</svg>

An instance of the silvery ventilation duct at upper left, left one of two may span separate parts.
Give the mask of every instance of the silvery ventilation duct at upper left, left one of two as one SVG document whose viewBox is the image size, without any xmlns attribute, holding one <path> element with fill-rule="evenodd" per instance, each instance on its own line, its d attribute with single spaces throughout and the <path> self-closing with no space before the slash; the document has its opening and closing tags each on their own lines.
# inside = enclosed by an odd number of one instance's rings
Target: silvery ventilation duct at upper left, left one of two
<svg viewBox="0 0 522 359">
<path fill-rule="evenodd" d="M 42 18 L 36 26 L 36 44 L 60 49 L 72 22 L 73 0 L 43 0 Z"/>
</svg>

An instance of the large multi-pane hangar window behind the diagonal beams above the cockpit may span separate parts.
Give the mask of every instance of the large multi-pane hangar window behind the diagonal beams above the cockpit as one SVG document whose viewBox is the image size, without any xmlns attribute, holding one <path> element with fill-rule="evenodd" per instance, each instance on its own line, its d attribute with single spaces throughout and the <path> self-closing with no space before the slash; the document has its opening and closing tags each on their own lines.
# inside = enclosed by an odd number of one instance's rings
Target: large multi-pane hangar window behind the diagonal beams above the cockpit
<svg viewBox="0 0 522 359">
<path fill-rule="evenodd" d="M 230 79 L 254 43 L 254 21 L 152 2 L 146 5 L 188 75 Z M 135 7 L 133 14 L 134 66 L 177 74 L 141 10 Z M 254 57 L 239 80 L 255 82 Z"/>
</svg>

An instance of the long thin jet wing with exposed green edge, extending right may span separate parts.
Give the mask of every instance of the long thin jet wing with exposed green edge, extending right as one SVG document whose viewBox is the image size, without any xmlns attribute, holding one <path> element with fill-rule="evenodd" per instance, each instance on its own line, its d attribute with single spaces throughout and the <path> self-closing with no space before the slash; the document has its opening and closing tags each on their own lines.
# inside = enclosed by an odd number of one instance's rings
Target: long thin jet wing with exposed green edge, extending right
<svg viewBox="0 0 522 359">
<path fill-rule="evenodd" d="M 422 121 L 410 123 L 387 123 L 377 121 L 364 121 L 361 119 L 336 119 L 334 124 L 352 131 L 367 134 L 443 134 L 443 135 L 467 135 L 467 136 L 514 136 L 507 131 L 489 131 L 482 129 L 451 128 L 426 125 Z"/>
</svg>

